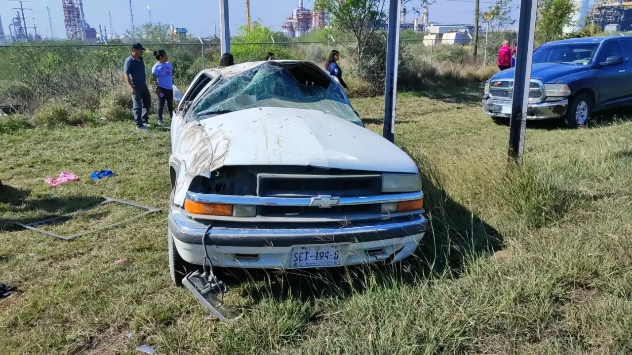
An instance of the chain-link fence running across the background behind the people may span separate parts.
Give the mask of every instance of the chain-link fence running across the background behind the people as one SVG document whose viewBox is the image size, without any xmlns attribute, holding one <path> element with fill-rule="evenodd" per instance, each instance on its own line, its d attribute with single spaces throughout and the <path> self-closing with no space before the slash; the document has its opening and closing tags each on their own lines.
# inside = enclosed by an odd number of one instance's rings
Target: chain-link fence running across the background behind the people
<svg viewBox="0 0 632 355">
<path fill-rule="evenodd" d="M 511 34 L 511 33 L 510 33 Z M 479 38 L 478 61 L 471 59 L 470 38 L 464 33 L 426 35 L 423 39 L 403 39 L 401 47 L 408 54 L 430 66 L 452 66 L 483 63 L 495 64 L 502 41 L 511 38 L 507 33 L 490 32 L 487 41 Z M 174 83 L 187 87 L 197 73 L 219 64 L 217 42 L 143 44 L 150 51 L 167 52 L 174 66 Z M 231 52 L 236 63 L 263 60 L 267 52 L 277 59 L 301 59 L 323 64 L 332 49 L 343 54 L 343 64 L 353 67 L 356 42 L 330 40 L 328 42 L 265 42 L 232 43 Z M 386 42 L 383 45 L 386 51 Z M 381 49 L 375 49 L 381 51 Z M 487 51 L 487 55 L 484 52 Z M 108 44 L 15 44 L 0 47 L 0 103 L 13 95 L 15 102 L 24 97 L 46 100 L 50 97 L 74 98 L 99 95 L 112 88 L 123 87 L 123 64 L 130 55 L 130 45 L 120 42 Z M 154 63 L 153 56 L 145 55 L 148 77 Z M 478 63 L 478 64 L 477 64 Z M 454 70 L 454 69 L 451 69 Z M 347 71 L 349 73 L 349 71 Z M 379 85 L 375 85 L 379 87 Z M 11 95 L 3 94 L 9 92 Z M 3 97 L 4 95 L 4 97 Z"/>
</svg>

